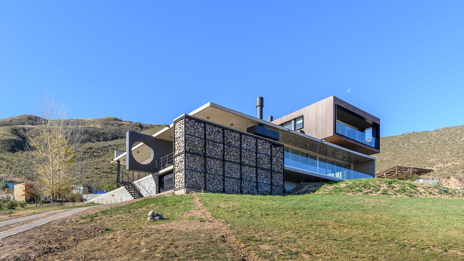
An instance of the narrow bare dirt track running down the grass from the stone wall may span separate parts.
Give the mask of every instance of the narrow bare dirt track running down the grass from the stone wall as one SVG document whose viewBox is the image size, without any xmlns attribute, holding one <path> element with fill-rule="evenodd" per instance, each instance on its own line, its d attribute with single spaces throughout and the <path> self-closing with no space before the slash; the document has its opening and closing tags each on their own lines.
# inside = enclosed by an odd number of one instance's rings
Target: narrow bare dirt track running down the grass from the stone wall
<svg viewBox="0 0 464 261">
<path fill-rule="evenodd" d="M 211 221 L 210 223 L 215 229 L 218 229 L 223 235 L 222 237 L 224 238 L 225 242 L 227 245 L 232 248 L 237 255 L 241 256 L 245 260 L 250 260 L 250 261 L 264 261 L 266 259 L 263 259 L 253 253 L 249 253 L 245 250 L 242 244 L 240 244 L 237 240 L 237 238 L 232 234 L 232 232 L 229 230 L 229 228 L 219 222 L 218 219 L 215 217 L 211 216 L 211 214 L 208 212 L 208 210 L 201 204 L 200 198 L 197 197 L 197 193 L 193 193 L 193 203 L 195 204 L 195 209 L 190 210 L 184 215 L 186 216 L 202 216 L 206 218 L 207 220 Z"/>
</svg>

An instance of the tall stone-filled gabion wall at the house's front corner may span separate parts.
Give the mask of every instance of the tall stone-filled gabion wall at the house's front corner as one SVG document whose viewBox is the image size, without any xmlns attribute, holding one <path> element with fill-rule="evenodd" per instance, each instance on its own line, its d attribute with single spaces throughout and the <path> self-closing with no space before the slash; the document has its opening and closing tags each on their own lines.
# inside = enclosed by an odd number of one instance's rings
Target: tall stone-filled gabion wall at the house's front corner
<svg viewBox="0 0 464 261">
<path fill-rule="evenodd" d="M 184 115 L 174 121 L 174 190 L 284 194 L 284 146 Z"/>
</svg>

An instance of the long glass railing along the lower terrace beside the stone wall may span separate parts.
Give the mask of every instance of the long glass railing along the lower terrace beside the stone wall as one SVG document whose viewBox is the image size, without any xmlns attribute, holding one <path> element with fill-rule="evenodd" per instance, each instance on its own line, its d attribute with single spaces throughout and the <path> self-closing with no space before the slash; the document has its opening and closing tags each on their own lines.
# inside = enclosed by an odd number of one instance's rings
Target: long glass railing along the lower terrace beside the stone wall
<svg viewBox="0 0 464 261">
<path fill-rule="evenodd" d="M 284 158 L 284 164 L 286 166 L 292 166 L 335 178 L 372 178 L 370 175 L 351 170 L 351 165 L 332 159 L 316 157 L 315 155 L 303 153 L 296 149 L 286 148 Z"/>
</svg>

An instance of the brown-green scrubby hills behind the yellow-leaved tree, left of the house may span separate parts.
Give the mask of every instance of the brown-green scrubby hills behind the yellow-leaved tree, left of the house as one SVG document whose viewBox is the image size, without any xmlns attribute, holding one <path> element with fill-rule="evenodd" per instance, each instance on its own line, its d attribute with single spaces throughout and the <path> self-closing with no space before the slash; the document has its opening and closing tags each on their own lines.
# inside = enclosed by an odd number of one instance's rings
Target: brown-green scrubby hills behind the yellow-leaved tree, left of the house
<svg viewBox="0 0 464 261">
<path fill-rule="evenodd" d="M 0 175 L 15 181 L 32 181 L 24 151 L 21 131 L 33 127 L 39 117 L 20 115 L 0 120 Z M 164 125 L 122 121 L 115 117 L 78 119 L 85 130 L 84 143 L 78 152 L 87 156 L 89 168 L 83 173 L 83 184 L 103 186 L 115 183 L 116 166 L 110 164 L 114 150 L 125 150 L 125 134 L 128 130 L 154 134 Z"/>
</svg>

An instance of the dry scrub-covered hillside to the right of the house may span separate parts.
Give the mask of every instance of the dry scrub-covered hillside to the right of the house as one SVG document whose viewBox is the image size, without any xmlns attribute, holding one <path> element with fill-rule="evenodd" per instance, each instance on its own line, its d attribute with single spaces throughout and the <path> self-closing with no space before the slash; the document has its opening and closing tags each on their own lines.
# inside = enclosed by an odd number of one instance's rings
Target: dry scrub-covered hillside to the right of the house
<svg viewBox="0 0 464 261">
<path fill-rule="evenodd" d="M 373 156 L 377 173 L 393 166 L 433 169 L 446 186 L 463 186 L 464 125 L 382 137 L 380 153 Z"/>
</svg>

